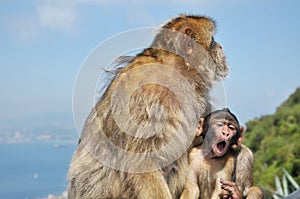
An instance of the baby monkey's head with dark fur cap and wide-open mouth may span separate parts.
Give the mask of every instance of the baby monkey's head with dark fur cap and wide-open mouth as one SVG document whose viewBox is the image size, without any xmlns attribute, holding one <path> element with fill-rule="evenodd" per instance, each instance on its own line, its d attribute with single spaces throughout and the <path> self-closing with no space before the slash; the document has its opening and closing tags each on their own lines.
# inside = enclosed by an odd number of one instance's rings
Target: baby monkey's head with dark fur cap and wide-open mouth
<svg viewBox="0 0 300 199">
<path fill-rule="evenodd" d="M 196 135 L 203 136 L 202 151 L 222 157 L 233 145 L 241 145 L 244 128 L 228 108 L 217 110 L 199 121 Z"/>
</svg>

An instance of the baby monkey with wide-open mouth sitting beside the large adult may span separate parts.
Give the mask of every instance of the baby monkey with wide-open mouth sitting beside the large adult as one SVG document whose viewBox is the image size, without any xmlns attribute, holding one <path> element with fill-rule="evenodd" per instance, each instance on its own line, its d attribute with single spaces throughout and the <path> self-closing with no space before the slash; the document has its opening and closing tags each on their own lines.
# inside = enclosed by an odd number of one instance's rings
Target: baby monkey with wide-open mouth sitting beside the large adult
<svg viewBox="0 0 300 199">
<path fill-rule="evenodd" d="M 201 118 L 203 144 L 189 154 L 190 170 L 181 199 L 263 199 L 253 187 L 253 154 L 242 145 L 244 128 L 225 108 Z"/>
</svg>

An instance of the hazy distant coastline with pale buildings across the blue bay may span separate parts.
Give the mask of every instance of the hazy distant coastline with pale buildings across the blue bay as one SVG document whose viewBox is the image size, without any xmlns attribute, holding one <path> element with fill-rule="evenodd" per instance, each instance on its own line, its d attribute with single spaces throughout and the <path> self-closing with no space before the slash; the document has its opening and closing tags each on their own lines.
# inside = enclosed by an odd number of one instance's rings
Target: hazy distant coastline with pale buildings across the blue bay
<svg viewBox="0 0 300 199">
<path fill-rule="evenodd" d="M 0 120 L 0 144 L 77 143 L 78 137 L 71 113 L 44 113 Z"/>
</svg>

